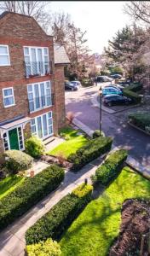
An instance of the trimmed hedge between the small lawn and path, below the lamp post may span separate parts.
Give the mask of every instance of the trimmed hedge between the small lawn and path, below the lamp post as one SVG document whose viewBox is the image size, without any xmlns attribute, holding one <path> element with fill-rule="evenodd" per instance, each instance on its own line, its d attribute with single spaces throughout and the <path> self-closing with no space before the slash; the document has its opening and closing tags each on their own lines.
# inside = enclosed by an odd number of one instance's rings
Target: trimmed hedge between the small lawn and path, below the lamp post
<svg viewBox="0 0 150 256">
<path fill-rule="evenodd" d="M 73 165 L 72 171 L 77 172 L 87 163 L 95 160 L 101 154 L 107 153 L 112 147 L 112 137 L 96 137 L 87 142 L 84 147 L 79 148 L 75 154 L 71 154 L 68 158 Z"/>
</svg>

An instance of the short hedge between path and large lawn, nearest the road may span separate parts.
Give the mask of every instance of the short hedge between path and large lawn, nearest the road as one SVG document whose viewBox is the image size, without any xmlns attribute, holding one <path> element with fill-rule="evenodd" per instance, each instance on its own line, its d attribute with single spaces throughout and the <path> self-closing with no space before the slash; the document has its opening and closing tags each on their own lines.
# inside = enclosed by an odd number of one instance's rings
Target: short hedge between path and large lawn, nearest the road
<svg viewBox="0 0 150 256">
<path fill-rule="evenodd" d="M 111 183 L 118 176 L 127 156 L 127 150 L 124 149 L 119 149 L 110 154 L 107 160 L 95 171 L 95 175 L 91 177 L 93 183 L 101 183 L 104 186 Z"/>
</svg>

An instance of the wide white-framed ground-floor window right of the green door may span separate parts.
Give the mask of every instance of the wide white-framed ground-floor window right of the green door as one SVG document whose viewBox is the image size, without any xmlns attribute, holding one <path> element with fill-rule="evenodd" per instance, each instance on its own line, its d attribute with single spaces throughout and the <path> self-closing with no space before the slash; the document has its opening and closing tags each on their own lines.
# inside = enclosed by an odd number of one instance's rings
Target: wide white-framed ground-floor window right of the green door
<svg viewBox="0 0 150 256">
<path fill-rule="evenodd" d="M 53 117 L 52 111 L 31 120 L 32 134 L 45 138 L 53 135 Z"/>
</svg>

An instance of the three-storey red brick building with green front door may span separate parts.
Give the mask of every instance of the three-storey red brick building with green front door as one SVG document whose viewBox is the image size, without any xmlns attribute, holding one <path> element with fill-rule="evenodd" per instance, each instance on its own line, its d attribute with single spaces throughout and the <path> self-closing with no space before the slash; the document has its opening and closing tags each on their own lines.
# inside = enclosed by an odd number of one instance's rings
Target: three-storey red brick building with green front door
<svg viewBox="0 0 150 256">
<path fill-rule="evenodd" d="M 25 149 L 25 139 L 43 140 L 65 125 L 63 46 L 53 43 L 30 16 L 0 15 L 0 155 Z"/>
</svg>

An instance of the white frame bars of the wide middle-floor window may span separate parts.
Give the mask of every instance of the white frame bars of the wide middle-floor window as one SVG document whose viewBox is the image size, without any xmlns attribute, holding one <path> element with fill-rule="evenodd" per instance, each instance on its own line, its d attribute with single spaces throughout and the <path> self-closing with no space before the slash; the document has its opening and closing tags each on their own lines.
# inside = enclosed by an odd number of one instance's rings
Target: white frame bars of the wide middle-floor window
<svg viewBox="0 0 150 256">
<path fill-rule="evenodd" d="M 50 97 L 51 97 L 51 105 L 47 106 L 47 94 L 46 94 L 46 90 L 47 90 L 47 83 L 49 83 L 49 90 L 50 90 Z M 40 107 L 36 108 L 36 95 L 35 95 L 35 90 L 34 90 L 34 85 L 38 84 L 38 92 L 39 92 L 39 102 L 40 102 Z M 40 84 L 44 84 L 44 96 L 45 96 L 45 106 L 42 106 L 42 95 L 41 95 L 41 90 L 40 90 Z M 28 86 L 32 85 L 32 91 L 28 91 Z M 43 81 L 43 82 L 38 82 L 38 83 L 33 83 L 33 84 L 27 84 L 27 96 L 28 93 L 32 93 L 33 96 L 33 100 L 30 101 L 29 97 L 28 97 L 28 102 L 33 102 L 34 105 L 34 110 L 30 111 L 30 106 L 29 106 L 29 111 L 30 113 L 34 113 L 37 112 L 38 110 L 44 109 L 44 108 L 50 108 L 52 107 L 53 103 L 52 103 L 52 92 L 51 92 L 51 81 Z"/>
</svg>

